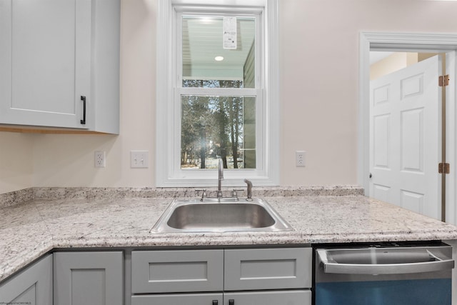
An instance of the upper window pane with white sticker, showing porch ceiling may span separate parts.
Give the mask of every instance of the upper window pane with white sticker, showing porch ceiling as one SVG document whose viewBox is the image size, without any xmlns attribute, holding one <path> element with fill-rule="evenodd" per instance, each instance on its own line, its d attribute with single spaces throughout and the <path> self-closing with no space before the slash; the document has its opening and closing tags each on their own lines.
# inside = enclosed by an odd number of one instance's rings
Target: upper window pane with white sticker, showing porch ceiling
<svg viewBox="0 0 457 305">
<path fill-rule="evenodd" d="M 255 21 L 237 17 L 236 49 L 224 49 L 223 17 L 183 16 L 183 86 L 186 80 L 200 79 L 240 81 L 239 88 L 254 88 Z"/>
</svg>

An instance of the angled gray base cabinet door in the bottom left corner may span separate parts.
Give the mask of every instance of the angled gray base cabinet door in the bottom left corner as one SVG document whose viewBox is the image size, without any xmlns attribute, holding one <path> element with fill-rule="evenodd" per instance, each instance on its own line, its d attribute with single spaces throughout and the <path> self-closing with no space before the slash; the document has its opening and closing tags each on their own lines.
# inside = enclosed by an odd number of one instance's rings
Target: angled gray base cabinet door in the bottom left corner
<svg viewBox="0 0 457 305">
<path fill-rule="evenodd" d="M 52 304 L 52 254 L 0 284 L 0 304 Z"/>
</svg>

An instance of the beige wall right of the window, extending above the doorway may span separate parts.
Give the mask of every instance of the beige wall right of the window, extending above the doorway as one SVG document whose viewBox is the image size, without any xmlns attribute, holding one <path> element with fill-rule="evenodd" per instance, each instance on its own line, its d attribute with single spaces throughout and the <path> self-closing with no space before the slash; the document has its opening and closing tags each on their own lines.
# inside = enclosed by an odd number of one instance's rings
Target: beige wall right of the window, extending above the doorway
<svg viewBox="0 0 457 305">
<path fill-rule="evenodd" d="M 281 1 L 281 184 L 356 184 L 360 31 L 457 32 L 451 1 Z M 293 151 L 307 151 L 296 168 Z"/>
</svg>

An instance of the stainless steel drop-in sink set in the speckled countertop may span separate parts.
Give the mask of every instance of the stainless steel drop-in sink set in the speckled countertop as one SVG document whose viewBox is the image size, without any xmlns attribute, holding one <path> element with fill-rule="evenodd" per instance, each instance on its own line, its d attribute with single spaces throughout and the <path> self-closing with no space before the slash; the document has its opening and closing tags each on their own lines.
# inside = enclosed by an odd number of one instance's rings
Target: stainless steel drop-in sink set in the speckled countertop
<svg viewBox="0 0 457 305">
<path fill-rule="evenodd" d="M 216 202 L 175 199 L 151 229 L 156 232 L 283 230 L 291 230 L 291 226 L 262 199 L 216 199 Z"/>
</svg>

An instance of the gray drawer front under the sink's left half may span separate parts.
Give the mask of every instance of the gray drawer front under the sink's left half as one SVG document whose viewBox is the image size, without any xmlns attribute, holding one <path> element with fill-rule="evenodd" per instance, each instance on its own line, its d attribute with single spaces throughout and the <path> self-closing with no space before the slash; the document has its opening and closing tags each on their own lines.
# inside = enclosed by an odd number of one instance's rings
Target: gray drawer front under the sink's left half
<svg viewBox="0 0 457 305">
<path fill-rule="evenodd" d="M 222 291 L 224 250 L 133 251 L 134 294 Z"/>
</svg>

